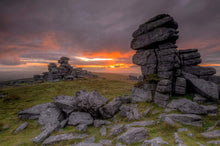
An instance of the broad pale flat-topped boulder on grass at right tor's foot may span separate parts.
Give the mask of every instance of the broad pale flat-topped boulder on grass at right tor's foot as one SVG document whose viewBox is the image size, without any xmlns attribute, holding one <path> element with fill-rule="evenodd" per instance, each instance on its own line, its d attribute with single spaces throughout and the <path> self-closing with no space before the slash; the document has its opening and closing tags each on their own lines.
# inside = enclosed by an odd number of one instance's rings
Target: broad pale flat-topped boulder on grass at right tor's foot
<svg viewBox="0 0 220 146">
<path fill-rule="evenodd" d="M 207 114 L 207 110 L 205 110 L 203 106 L 186 98 L 174 99 L 167 105 L 167 107 L 177 109 L 184 114 Z"/>
</svg>

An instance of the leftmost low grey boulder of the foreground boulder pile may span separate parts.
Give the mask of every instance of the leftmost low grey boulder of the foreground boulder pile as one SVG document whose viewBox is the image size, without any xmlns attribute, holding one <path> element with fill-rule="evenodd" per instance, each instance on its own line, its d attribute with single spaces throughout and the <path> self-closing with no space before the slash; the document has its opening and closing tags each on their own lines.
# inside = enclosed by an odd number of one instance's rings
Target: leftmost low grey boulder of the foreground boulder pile
<svg viewBox="0 0 220 146">
<path fill-rule="evenodd" d="M 52 105 L 51 103 L 43 103 L 33 106 L 31 108 L 23 109 L 18 113 L 18 117 L 20 119 L 31 119 L 31 120 L 38 119 L 40 113 L 42 111 L 45 111 L 51 105 Z"/>
</svg>

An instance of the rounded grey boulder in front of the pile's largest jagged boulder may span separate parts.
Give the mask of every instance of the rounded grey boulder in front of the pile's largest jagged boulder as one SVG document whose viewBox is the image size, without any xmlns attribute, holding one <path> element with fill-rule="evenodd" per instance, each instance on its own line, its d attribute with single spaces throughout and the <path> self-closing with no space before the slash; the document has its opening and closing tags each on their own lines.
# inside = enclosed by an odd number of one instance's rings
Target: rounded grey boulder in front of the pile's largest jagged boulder
<svg viewBox="0 0 220 146">
<path fill-rule="evenodd" d="M 85 112 L 72 112 L 69 116 L 68 125 L 91 125 L 93 124 L 93 118 L 89 113 Z"/>
</svg>

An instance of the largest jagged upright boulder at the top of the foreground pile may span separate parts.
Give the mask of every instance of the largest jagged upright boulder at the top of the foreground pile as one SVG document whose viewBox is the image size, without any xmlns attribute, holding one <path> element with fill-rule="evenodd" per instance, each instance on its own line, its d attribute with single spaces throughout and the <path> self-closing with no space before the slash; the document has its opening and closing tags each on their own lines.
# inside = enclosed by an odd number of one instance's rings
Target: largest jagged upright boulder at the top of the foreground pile
<svg viewBox="0 0 220 146">
<path fill-rule="evenodd" d="M 100 115 L 99 108 L 106 104 L 107 98 L 100 95 L 98 91 L 87 92 L 80 90 L 76 92 L 78 107 L 80 110 L 90 113 L 93 117 Z"/>
</svg>

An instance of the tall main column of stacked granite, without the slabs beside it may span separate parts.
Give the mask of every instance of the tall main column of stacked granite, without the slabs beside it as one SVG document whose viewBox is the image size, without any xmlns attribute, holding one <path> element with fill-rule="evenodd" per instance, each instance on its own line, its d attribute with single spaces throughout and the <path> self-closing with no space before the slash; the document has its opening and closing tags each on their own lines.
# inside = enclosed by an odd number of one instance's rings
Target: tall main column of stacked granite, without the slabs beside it
<svg viewBox="0 0 220 146">
<path fill-rule="evenodd" d="M 144 79 L 152 74 L 161 79 L 154 98 L 154 102 L 161 106 L 175 92 L 175 76 L 180 68 L 175 45 L 178 39 L 177 28 L 178 24 L 171 16 L 162 14 L 140 25 L 132 35 L 131 48 L 137 50 L 133 63 L 141 66 Z"/>
</svg>

